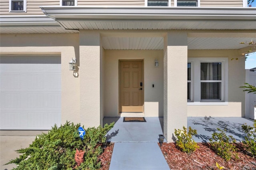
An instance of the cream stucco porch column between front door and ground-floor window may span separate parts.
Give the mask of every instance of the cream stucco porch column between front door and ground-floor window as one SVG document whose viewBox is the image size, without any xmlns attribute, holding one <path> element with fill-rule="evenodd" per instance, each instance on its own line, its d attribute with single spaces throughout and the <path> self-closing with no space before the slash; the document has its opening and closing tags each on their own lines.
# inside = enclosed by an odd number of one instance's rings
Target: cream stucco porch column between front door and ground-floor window
<svg viewBox="0 0 256 170">
<path fill-rule="evenodd" d="M 186 32 L 168 32 L 164 37 L 164 136 L 173 142 L 174 129 L 187 127 Z"/>
</svg>

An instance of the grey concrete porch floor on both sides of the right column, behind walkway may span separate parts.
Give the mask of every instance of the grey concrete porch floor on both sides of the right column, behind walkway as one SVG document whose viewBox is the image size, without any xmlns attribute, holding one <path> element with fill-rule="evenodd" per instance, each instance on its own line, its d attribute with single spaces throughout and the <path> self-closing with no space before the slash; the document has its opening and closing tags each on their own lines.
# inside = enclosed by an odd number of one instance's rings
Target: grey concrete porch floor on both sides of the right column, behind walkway
<svg viewBox="0 0 256 170">
<path fill-rule="evenodd" d="M 163 117 L 145 117 L 147 122 L 123 122 L 123 117 L 105 117 L 103 123 L 115 122 L 108 134 L 109 142 L 158 142 L 158 134 L 163 134 Z M 232 135 L 237 142 L 244 140 L 242 125 L 253 126 L 253 120 L 243 117 L 188 117 L 187 127 L 197 130 L 193 136 L 196 142 L 209 142 L 217 128 L 226 130 L 227 135 Z M 112 134 L 111 134 L 112 133 Z"/>
</svg>

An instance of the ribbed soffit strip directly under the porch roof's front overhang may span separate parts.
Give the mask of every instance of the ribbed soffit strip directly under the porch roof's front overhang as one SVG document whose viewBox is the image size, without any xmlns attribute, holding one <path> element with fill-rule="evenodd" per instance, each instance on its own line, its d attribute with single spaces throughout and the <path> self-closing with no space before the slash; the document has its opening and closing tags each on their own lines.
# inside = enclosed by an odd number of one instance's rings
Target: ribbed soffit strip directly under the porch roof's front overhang
<svg viewBox="0 0 256 170">
<path fill-rule="evenodd" d="M 60 22 L 68 30 L 251 30 L 251 22 Z M 220 29 L 221 28 L 221 29 Z"/>
</svg>

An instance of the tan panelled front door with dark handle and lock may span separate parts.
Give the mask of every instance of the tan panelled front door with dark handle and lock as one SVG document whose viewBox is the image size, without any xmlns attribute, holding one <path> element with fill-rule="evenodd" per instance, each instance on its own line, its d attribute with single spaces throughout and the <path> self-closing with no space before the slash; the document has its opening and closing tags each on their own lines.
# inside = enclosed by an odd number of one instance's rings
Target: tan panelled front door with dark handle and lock
<svg viewBox="0 0 256 170">
<path fill-rule="evenodd" d="M 143 112 L 143 61 L 119 61 L 119 112 Z"/>
</svg>

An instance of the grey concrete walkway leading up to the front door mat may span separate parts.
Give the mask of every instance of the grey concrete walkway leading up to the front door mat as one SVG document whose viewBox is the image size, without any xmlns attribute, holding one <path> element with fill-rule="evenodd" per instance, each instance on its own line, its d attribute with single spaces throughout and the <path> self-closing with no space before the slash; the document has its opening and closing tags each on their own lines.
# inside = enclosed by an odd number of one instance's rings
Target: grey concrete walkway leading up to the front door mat
<svg viewBox="0 0 256 170">
<path fill-rule="evenodd" d="M 146 122 L 123 122 L 121 117 L 108 132 L 108 142 L 115 143 L 110 170 L 170 170 L 158 146 L 163 118 L 145 119 Z"/>
</svg>

